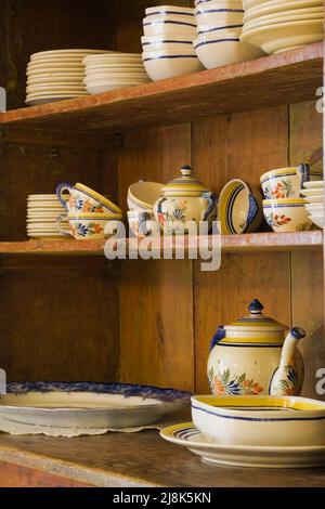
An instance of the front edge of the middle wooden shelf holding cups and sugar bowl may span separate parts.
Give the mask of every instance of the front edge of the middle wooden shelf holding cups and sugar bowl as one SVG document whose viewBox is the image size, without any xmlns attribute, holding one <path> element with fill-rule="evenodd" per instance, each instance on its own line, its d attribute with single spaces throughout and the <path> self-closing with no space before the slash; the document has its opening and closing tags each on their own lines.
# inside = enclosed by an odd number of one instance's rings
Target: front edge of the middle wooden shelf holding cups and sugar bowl
<svg viewBox="0 0 325 509">
<path fill-rule="evenodd" d="M 203 237 L 202 237 L 203 239 Z M 205 240 L 207 240 L 205 238 Z M 185 238 L 185 252 L 190 246 L 196 246 L 199 237 Z M 299 249 L 317 249 L 323 246 L 323 232 L 297 233 L 255 233 L 246 235 L 229 235 L 221 237 L 223 252 L 245 251 L 291 251 Z M 128 244 L 130 242 L 128 240 Z M 211 249 L 213 237 L 208 237 Z M 181 247 L 179 239 L 173 240 L 173 249 Z M 0 243 L 2 256 L 104 256 L 104 240 L 25 240 L 17 243 Z M 162 252 L 162 249 L 159 249 Z"/>
</svg>

